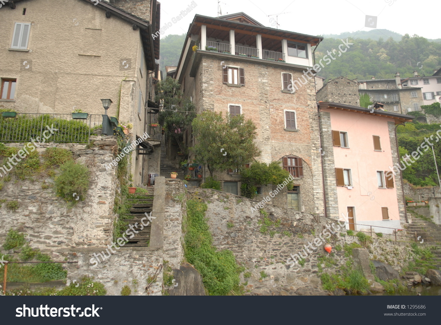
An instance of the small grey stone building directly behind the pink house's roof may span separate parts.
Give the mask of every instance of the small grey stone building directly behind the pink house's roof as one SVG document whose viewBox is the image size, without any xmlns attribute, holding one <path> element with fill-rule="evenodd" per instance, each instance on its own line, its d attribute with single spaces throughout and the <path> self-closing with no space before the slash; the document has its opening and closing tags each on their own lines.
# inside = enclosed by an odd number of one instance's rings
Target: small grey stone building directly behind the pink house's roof
<svg viewBox="0 0 441 325">
<path fill-rule="evenodd" d="M 336 102 L 360 106 L 357 82 L 345 77 L 329 79 L 323 87 L 317 89 L 316 97 L 318 102 Z"/>
</svg>

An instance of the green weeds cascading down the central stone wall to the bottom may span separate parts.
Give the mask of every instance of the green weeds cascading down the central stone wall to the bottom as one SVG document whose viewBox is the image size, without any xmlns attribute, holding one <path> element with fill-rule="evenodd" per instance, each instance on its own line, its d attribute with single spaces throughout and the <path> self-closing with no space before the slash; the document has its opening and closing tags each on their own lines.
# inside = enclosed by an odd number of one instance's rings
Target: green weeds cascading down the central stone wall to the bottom
<svg viewBox="0 0 441 325">
<path fill-rule="evenodd" d="M 218 251 L 206 223 L 207 205 L 197 197 L 187 200 L 184 253 L 186 260 L 201 273 L 209 295 L 240 294 L 239 272 L 233 253 Z"/>
</svg>

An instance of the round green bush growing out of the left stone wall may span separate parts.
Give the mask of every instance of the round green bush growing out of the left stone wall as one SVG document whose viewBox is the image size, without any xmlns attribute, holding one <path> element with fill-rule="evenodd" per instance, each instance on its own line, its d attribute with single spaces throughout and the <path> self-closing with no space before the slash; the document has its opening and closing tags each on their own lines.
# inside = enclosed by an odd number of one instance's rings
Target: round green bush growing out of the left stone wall
<svg viewBox="0 0 441 325">
<path fill-rule="evenodd" d="M 89 169 L 69 160 L 60 166 L 61 174 L 55 179 L 55 190 L 59 197 L 66 200 L 70 206 L 75 205 L 78 200 L 84 200 L 89 188 Z M 73 196 L 75 194 L 75 197 Z"/>
</svg>

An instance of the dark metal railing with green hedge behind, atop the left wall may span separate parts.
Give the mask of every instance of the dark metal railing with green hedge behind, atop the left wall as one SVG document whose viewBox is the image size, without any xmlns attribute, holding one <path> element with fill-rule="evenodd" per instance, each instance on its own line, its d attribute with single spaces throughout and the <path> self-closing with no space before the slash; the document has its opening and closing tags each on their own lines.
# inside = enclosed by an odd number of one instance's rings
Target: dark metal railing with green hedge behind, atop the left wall
<svg viewBox="0 0 441 325">
<path fill-rule="evenodd" d="M 74 119 L 72 114 L 17 113 L 2 117 L 0 142 L 89 142 L 90 135 L 101 134 L 102 115 L 89 114 Z"/>
</svg>

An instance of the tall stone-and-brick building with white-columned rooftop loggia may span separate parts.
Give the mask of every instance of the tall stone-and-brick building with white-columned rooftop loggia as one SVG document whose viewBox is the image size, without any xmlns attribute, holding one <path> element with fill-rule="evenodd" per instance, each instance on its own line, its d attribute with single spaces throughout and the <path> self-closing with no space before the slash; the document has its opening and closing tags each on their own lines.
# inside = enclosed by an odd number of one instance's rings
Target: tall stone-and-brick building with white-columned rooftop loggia
<svg viewBox="0 0 441 325">
<path fill-rule="evenodd" d="M 244 13 L 195 15 L 175 76 L 197 112 L 244 114 L 254 122 L 262 151 L 258 161 L 280 161 L 295 177 L 293 191 L 278 194 L 271 203 L 323 214 L 315 84 L 304 75 L 313 66 L 311 46 L 320 40 L 265 27 Z M 191 129 L 185 139 L 191 146 Z M 225 192 L 240 193 L 234 170 L 217 176 Z M 271 187 L 259 190 L 262 198 Z"/>
</svg>

